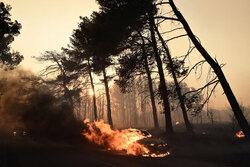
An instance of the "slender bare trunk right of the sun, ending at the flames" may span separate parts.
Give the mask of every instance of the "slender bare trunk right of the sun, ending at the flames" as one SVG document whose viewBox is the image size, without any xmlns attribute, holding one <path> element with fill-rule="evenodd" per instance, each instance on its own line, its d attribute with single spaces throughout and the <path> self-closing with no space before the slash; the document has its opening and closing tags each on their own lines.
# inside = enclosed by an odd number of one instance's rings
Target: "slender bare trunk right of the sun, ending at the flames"
<svg viewBox="0 0 250 167">
<path fill-rule="evenodd" d="M 105 85 L 105 92 L 106 92 L 106 99 L 107 99 L 107 116 L 108 116 L 108 123 L 111 127 L 113 127 L 113 121 L 111 116 L 111 105 L 110 105 L 110 95 L 109 95 L 109 86 L 108 86 L 108 78 L 106 75 L 105 68 L 102 70 L 103 73 L 103 81 Z"/>
</svg>

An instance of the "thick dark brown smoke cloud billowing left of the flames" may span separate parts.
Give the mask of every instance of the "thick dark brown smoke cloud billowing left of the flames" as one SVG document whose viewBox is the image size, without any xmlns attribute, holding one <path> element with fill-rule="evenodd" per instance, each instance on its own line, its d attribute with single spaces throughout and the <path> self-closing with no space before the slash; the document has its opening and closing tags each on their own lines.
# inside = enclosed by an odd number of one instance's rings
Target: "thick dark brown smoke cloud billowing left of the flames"
<svg viewBox="0 0 250 167">
<path fill-rule="evenodd" d="M 1 71 L 0 131 L 24 128 L 35 137 L 65 138 L 81 131 L 73 109 L 29 71 Z"/>
</svg>

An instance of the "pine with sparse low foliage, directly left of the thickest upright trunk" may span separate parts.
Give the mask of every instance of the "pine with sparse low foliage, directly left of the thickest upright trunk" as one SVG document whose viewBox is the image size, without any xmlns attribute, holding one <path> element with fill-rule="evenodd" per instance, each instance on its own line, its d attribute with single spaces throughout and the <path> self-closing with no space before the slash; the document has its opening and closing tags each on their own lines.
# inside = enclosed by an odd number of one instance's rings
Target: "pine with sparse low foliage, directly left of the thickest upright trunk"
<svg viewBox="0 0 250 167">
<path fill-rule="evenodd" d="M 126 92 L 126 90 L 129 90 L 130 87 L 134 86 L 134 80 L 138 76 L 146 74 L 148 89 L 150 92 L 154 127 L 159 128 L 157 109 L 154 99 L 153 81 L 151 78 L 151 70 L 153 67 L 150 67 L 154 64 L 154 59 L 150 60 L 150 62 L 148 60 L 148 58 L 150 58 L 150 54 L 153 54 L 153 51 L 150 44 L 145 43 L 144 37 L 140 32 L 135 35 L 137 35 L 137 37 L 134 37 L 133 39 L 136 41 L 133 41 L 133 43 L 130 41 L 130 53 L 125 53 L 125 56 L 121 57 L 119 60 L 120 67 L 117 69 L 119 78 L 116 80 L 116 84 L 120 86 L 123 92 Z M 149 63 L 151 65 L 149 65 Z"/>
</svg>

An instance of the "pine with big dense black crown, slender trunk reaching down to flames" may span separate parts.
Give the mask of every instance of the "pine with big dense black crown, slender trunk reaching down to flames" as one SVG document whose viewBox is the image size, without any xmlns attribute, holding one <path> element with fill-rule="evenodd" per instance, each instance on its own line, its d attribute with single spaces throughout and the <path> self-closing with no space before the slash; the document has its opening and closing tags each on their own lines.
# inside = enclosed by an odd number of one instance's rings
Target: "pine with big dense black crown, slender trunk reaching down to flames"
<svg viewBox="0 0 250 167">
<path fill-rule="evenodd" d="M 92 14 L 92 25 L 89 28 L 89 46 L 93 53 L 93 67 L 96 72 L 102 72 L 107 98 L 107 114 L 112 126 L 110 95 L 106 69 L 112 65 L 112 57 L 126 49 L 123 41 L 133 32 L 132 25 L 145 13 L 147 3 L 143 1 L 97 1 L 100 12 Z M 131 19 L 127 19 L 130 17 Z M 105 33 L 104 33 L 105 32 Z"/>
</svg>

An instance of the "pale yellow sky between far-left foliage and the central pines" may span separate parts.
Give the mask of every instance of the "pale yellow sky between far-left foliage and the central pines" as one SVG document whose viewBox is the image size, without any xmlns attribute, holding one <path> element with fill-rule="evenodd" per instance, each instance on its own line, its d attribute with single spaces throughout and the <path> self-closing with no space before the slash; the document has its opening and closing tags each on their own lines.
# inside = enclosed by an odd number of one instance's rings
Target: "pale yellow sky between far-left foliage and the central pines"
<svg viewBox="0 0 250 167">
<path fill-rule="evenodd" d="M 21 63 L 34 72 L 41 70 L 32 59 L 46 50 L 60 50 L 69 44 L 80 16 L 98 10 L 95 0 L 3 0 L 12 6 L 13 19 L 22 24 L 13 48 L 24 55 Z"/>
</svg>

